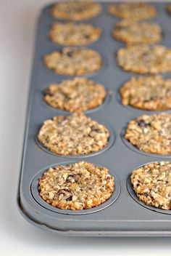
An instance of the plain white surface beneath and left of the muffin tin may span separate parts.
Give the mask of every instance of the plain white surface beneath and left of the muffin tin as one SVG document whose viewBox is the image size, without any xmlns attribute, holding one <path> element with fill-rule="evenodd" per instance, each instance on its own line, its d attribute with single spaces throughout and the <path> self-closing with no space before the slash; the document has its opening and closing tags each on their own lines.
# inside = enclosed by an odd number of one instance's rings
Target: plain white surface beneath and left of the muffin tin
<svg viewBox="0 0 171 256">
<path fill-rule="evenodd" d="M 170 255 L 170 238 L 56 236 L 30 225 L 17 210 L 17 182 L 36 22 L 41 7 L 50 2 L 0 1 L 0 255 Z"/>
</svg>

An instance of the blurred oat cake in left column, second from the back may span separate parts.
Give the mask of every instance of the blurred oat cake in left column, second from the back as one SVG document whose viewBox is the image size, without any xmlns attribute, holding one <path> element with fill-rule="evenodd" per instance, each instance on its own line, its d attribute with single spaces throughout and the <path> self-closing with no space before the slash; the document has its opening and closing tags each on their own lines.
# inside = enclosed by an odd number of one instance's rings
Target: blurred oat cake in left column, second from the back
<svg viewBox="0 0 171 256">
<path fill-rule="evenodd" d="M 49 38 L 54 43 L 67 46 L 92 44 L 99 40 L 100 36 L 101 28 L 83 23 L 54 23 L 49 33 Z"/>
</svg>

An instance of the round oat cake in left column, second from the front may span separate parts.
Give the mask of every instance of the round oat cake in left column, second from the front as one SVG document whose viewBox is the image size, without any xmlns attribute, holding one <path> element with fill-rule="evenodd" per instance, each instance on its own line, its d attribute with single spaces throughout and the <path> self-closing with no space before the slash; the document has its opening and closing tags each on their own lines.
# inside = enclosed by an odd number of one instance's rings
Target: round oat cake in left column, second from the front
<svg viewBox="0 0 171 256">
<path fill-rule="evenodd" d="M 107 145 L 109 130 L 83 113 L 55 116 L 44 121 L 38 140 L 58 155 L 83 155 Z"/>
</svg>

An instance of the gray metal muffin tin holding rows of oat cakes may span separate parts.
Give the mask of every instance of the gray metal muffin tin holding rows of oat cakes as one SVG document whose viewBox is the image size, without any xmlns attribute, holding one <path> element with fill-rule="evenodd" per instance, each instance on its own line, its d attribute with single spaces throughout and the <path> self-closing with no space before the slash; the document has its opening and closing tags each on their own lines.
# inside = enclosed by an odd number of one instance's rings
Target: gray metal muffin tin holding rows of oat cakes
<svg viewBox="0 0 171 256">
<path fill-rule="evenodd" d="M 57 115 L 67 115 L 66 111 L 53 109 L 43 103 L 43 90 L 51 83 L 71 76 L 59 76 L 47 70 L 43 64 L 43 55 L 62 49 L 51 42 L 47 36 L 54 17 L 51 16 L 51 6 L 45 7 L 38 23 L 36 52 L 33 63 L 30 96 L 28 100 L 28 115 L 25 127 L 20 183 L 17 196 L 18 208 L 22 215 L 33 225 L 47 231 L 73 236 L 170 236 L 170 211 L 145 206 L 138 201 L 130 185 L 130 174 L 133 169 L 152 161 L 170 161 L 171 156 L 153 155 L 138 151 L 128 141 L 125 141 L 124 129 L 130 119 L 135 119 L 143 113 L 120 103 L 118 89 L 125 81 L 137 74 L 122 71 L 116 63 L 116 53 L 120 47 L 125 47 L 120 41 L 112 38 L 111 32 L 118 21 L 107 12 L 109 3 L 101 3 L 101 15 L 85 23 L 91 23 L 102 28 L 103 34 L 99 41 L 85 47 L 96 49 L 101 53 L 104 65 L 101 71 L 91 73 L 87 77 L 104 84 L 108 97 L 104 104 L 86 114 L 109 128 L 111 137 L 106 148 L 98 153 L 86 156 L 63 157 L 55 156 L 37 143 L 36 135 L 43 121 Z M 162 25 L 164 38 L 161 44 L 171 45 L 171 16 L 165 11 L 166 3 L 155 4 L 159 15 L 149 20 Z M 165 73 L 165 78 L 171 78 L 171 73 Z M 49 167 L 56 164 L 68 164 L 75 161 L 88 161 L 109 169 L 115 179 L 115 191 L 104 204 L 83 211 L 69 211 L 51 207 L 38 195 L 38 177 Z"/>
</svg>

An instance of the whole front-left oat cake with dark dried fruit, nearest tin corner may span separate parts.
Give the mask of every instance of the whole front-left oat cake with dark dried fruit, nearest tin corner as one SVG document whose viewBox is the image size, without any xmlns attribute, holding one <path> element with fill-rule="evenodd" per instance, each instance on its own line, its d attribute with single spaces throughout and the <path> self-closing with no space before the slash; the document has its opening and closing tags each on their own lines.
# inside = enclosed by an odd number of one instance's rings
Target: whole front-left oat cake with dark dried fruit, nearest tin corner
<svg viewBox="0 0 171 256">
<path fill-rule="evenodd" d="M 106 167 L 85 161 L 50 168 L 39 179 L 39 194 L 60 209 L 91 209 L 112 196 L 114 177 Z"/>
</svg>

